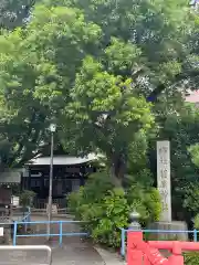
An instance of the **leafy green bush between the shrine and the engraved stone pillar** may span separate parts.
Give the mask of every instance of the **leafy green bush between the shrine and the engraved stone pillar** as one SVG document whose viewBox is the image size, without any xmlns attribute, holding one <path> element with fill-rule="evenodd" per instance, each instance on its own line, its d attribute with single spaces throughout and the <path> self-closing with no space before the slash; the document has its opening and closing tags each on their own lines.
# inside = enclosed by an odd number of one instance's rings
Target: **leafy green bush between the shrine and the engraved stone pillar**
<svg viewBox="0 0 199 265">
<path fill-rule="evenodd" d="M 69 206 L 85 221 L 83 229 L 94 242 L 111 247 L 121 245 L 121 227 L 127 227 L 130 211 L 140 213 L 143 224 L 158 220 L 160 212 L 156 189 L 134 184 L 125 192 L 113 187 L 107 172 L 91 176 L 85 187 L 70 194 Z"/>
</svg>

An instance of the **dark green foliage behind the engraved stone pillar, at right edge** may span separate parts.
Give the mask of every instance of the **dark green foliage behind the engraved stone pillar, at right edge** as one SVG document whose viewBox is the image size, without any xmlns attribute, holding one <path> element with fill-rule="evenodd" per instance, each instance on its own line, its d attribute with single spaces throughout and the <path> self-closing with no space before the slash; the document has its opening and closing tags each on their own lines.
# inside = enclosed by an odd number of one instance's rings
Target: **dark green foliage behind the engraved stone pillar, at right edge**
<svg viewBox="0 0 199 265">
<path fill-rule="evenodd" d="M 191 225 L 191 218 L 198 213 L 199 169 L 193 163 L 190 153 L 193 149 L 190 147 L 198 142 L 199 110 L 180 100 L 163 104 L 161 107 L 156 105 L 157 109 L 157 121 L 160 125 L 158 138 L 170 140 L 172 216 L 175 220 L 186 220 Z M 156 162 L 156 140 L 157 138 L 154 138 L 150 148 L 154 176 L 156 176 L 156 168 L 153 166 Z"/>
</svg>

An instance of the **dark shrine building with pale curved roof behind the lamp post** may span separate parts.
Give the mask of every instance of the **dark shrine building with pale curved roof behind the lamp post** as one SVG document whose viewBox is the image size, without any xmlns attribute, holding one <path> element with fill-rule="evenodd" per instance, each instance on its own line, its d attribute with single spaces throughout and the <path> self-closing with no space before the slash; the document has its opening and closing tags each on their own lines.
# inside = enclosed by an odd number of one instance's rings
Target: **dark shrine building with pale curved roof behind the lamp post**
<svg viewBox="0 0 199 265">
<path fill-rule="evenodd" d="M 84 186 L 87 177 L 96 171 L 95 160 L 94 155 L 86 158 L 54 156 L 52 200 L 57 208 L 66 208 L 67 195 Z M 22 190 L 32 190 L 36 193 L 33 201 L 35 209 L 46 209 L 49 176 L 50 157 L 36 158 L 27 165 L 21 186 Z"/>
</svg>

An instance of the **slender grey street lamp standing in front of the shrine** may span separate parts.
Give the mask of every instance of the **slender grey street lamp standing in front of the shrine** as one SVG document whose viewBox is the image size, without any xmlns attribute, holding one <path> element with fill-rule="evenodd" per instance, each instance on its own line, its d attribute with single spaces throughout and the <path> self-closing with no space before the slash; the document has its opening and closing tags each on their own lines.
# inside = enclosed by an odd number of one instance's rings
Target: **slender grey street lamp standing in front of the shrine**
<svg viewBox="0 0 199 265">
<path fill-rule="evenodd" d="M 53 182 L 53 149 L 54 149 L 54 132 L 56 130 L 56 125 L 50 125 L 51 131 L 51 161 L 50 161 L 50 178 L 49 178 L 49 209 L 48 209 L 48 240 L 50 240 L 51 234 L 51 219 L 52 219 L 52 182 Z"/>
</svg>

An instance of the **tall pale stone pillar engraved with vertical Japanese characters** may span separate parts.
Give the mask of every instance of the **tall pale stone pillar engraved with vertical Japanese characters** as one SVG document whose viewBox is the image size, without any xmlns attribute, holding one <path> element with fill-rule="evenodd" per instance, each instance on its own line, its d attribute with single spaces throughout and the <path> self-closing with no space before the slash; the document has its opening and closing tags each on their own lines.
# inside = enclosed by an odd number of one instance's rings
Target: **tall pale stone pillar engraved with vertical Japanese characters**
<svg viewBox="0 0 199 265">
<path fill-rule="evenodd" d="M 163 222 L 171 222 L 170 142 L 157 141 L 157 187 L 161 197 Z"/>
</svg>

